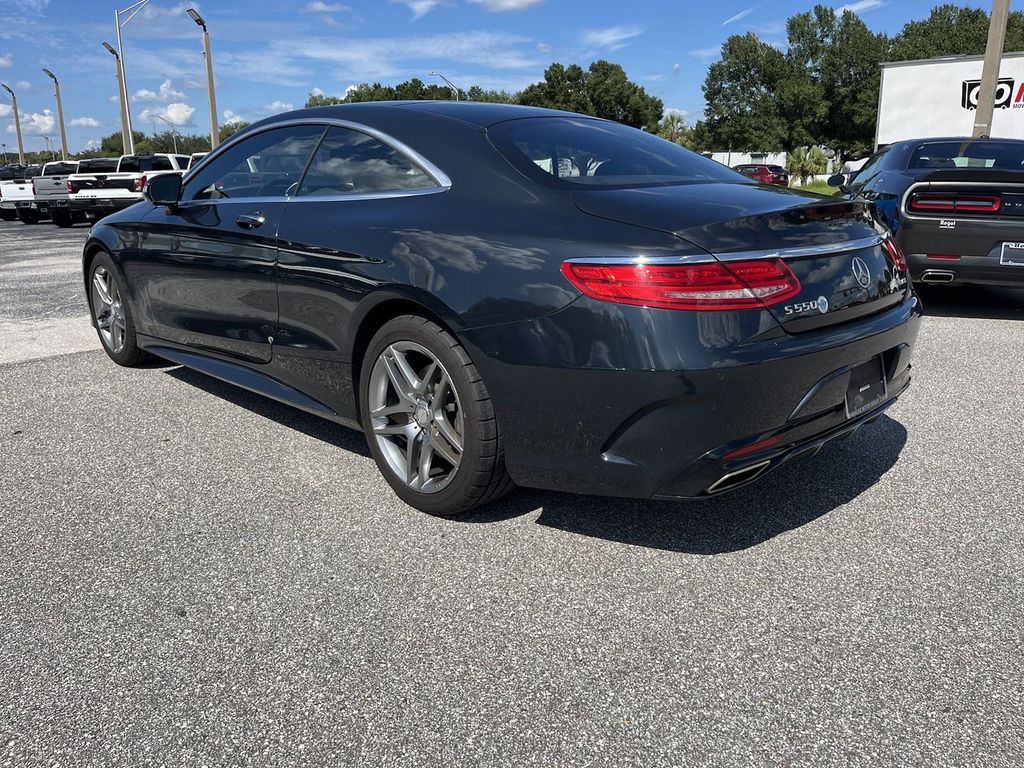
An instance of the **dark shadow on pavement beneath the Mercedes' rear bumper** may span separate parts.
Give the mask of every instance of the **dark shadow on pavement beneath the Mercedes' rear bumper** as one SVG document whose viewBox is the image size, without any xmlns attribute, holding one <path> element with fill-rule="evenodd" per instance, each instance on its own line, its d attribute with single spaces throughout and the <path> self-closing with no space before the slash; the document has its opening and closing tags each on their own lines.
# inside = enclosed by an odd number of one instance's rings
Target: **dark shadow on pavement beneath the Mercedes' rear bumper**
<svg viewBox="0 0 1024 768">
<path fill-rule="evenodd" d="M 896 463 L 906 430 L 883 416 L 846 440 L 796 459 L 753 485 L 699 501 L 654 502 L 519 489 L 453 519 L 497 522 L 541 510 L 537 523 L 638 547 L 717 555 L 755 547 L 853 501 Z M 856 514 L 885 514 L 882 504 Z M 854 512 L 850 512 L 854 514 Z"/>
</svg>

